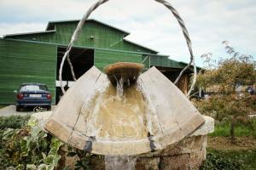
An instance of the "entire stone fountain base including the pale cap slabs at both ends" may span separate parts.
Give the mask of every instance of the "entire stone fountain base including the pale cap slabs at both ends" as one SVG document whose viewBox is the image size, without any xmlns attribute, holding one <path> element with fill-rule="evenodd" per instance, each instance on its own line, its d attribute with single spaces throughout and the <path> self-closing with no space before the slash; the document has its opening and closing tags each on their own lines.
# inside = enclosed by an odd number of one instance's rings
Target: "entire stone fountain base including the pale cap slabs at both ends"
<svg viewBox="0 0 256 170">
<path fill-rule="evenodd" d="M 45 114 L 44 114 L 45 113 Z M 32 119 L 38 120 L 38 126 L 44 127 L 44 122 L 51 112 L 36 113 Z M 204 116 L 206 122 L 185 139 L 166 147 L 163 150 L 149 152 L 137 156 L 136 170 L 183 170 L 198 169 L 206 159 L 207 133 L 214 131 L 212 117 Z M 61 147 L 61 162 L 58 169 L 69 167 L 74 169 L 78 156 L 67 156 L 67 145 Z M 90 169 L 105 170 L 104 156 L 86 156 Z"/>
</svg>

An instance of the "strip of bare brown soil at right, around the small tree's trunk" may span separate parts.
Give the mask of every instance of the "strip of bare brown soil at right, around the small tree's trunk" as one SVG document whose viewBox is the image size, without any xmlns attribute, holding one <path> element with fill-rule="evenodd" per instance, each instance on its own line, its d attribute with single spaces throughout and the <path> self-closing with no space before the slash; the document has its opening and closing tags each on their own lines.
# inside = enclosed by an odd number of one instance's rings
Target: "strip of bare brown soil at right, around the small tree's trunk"
<svg viewBox="0 0 256 170">
<path fill-rule="evenodd" d="M 227 137 L 208 137 L 207 147 L 214 150 L 256 150 L 256 138 L 236 137 L 236 144 Z"/>
</svg>

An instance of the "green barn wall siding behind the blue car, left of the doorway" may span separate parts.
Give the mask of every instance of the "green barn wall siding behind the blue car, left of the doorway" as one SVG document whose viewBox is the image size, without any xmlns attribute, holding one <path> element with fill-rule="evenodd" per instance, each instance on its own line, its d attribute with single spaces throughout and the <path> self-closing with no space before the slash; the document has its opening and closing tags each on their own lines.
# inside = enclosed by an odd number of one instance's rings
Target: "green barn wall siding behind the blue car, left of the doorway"
<svg viewBox="0 0 256 170">
<path fill-rule="evenodd" d="M 23 82 L 47 84 L 55 103 L 56 46 L 0 39 L 0 104 L 14 104 Z"/>
</svg>

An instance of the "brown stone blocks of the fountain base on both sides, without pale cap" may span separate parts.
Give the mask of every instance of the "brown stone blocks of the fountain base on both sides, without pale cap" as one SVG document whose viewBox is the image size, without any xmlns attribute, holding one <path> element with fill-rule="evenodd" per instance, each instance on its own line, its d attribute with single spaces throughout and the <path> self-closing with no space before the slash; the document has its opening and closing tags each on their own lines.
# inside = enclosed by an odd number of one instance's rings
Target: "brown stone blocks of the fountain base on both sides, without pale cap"
<svg viewBox="0 0 256 170">
<path fill-rule="evenodd" d="M 198 169 L 206 159 L 207 135 L 192 136 L 164 150 L 157 150 L 137 156 L 136 170 L 183 170 Z M 77 156 L 69 157 L 67 152 L 61 156 L 61 167 L 74 168 L 79 160 Z M 103 156 L 87 157 L 91 169 L 105 170 Z"/>
</svg>

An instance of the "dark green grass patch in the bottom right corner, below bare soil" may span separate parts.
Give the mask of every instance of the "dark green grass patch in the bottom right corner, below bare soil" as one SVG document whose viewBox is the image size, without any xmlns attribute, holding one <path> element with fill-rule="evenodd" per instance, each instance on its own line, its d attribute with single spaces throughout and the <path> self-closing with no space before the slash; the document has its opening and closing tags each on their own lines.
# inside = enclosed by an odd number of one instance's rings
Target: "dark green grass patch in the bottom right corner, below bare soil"
<svg viewBox="0 0 256 170">
<path fill-rule="evenodd" d="M 207 150 L 207 152 L 230 161 L 239 160 L 244 170 L 256 170 L 256 150 Z"/>
</svg>

